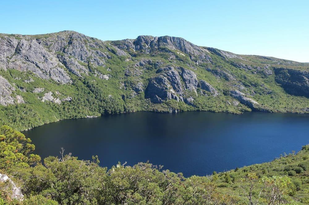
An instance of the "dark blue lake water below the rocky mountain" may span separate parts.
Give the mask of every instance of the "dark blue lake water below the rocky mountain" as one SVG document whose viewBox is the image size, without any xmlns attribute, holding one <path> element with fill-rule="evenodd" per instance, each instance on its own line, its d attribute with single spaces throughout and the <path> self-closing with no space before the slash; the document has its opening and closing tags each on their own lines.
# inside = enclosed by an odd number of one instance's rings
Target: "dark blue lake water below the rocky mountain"
<svg viewBox="0 0 309 205">
<path fill-rule="evenodd" d="M 43 158 L 61 147 L 101 166 L 147 160 L 185 176 L 206 175 L 273 160 L 309 143 L 309 115 L 248 112 L 159 114 L 136 112 L 71 119 L 24 134 Z"/>
</svg>

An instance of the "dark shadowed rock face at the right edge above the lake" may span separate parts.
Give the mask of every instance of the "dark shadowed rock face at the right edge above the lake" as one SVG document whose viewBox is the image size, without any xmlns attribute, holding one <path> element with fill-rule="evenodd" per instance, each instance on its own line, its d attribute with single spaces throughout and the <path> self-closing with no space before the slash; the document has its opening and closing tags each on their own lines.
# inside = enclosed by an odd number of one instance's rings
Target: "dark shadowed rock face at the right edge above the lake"
<svg viewBox="0 0 309 205">
<path fill-rule="evenodd" d="M 275 80 L 290 94 L 309 97 L 309 72 L 288 68 L 274 68 Z"/>
</svg>

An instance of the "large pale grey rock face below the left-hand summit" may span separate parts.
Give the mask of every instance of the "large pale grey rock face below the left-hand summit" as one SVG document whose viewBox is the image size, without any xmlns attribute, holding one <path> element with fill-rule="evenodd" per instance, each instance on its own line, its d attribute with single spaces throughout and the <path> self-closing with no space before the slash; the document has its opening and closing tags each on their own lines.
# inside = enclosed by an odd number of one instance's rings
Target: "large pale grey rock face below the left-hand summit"
<svg viewBox="0 0 309 205">
<path fill-rule="evenodd" d="M 0 69 L 30 70 L 40 78 L 66 84 L 71 83 L 71 79 L 63 67 L 81 76 L 81 73 L 88 73 L 88 68 L 80 65 L 78 60 L 104 66 L 105 59 L 111 58 L 104 52 L 108 50 L 105 42 L 73 31 L 38 36 L 36 39 L 21 35 L 19 38 L 6 35 L 0 38 Z M 127 55 L 125 51 L 110 46 L 116 55 Z"/>
</svg>

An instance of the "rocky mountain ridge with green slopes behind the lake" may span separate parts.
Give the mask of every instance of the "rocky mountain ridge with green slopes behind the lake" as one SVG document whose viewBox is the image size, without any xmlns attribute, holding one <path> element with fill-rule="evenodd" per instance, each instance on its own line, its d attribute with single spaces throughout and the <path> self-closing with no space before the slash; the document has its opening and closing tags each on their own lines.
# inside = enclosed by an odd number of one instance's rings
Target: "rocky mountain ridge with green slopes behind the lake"
<svg viewBox="0 0 309 205">
<path fill-rule="evenodd" d="M 308 78 L 308 63 L 177 37 L 0 34 L 0 124 L 24 130 L 133 111 L 308 113 Z"/>
</svg>

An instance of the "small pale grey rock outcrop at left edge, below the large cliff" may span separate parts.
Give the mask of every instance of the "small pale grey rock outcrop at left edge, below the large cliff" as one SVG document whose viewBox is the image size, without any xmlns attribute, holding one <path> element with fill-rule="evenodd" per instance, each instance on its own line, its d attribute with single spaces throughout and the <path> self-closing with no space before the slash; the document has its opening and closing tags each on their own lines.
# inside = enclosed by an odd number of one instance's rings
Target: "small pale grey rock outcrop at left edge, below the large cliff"
<svg viewBox="0 0 309 205">
<path fill-rule="evenodd" d="M 0 75 L 0 105 L 14 104 L 14 98 L 11 96 L 14 90 L 15 88 Z"/>
</svg>

